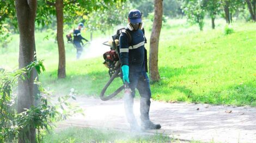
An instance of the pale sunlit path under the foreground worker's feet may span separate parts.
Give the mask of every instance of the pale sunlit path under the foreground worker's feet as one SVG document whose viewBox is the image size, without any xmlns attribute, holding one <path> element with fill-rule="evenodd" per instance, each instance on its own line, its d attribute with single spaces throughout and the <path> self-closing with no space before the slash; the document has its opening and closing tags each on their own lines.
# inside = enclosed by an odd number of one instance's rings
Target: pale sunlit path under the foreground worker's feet
<svg viewBox="0 0 256 143">
<path fill-rule="evenodd" d="M 129 129 L 122 100 L 101 101 L 78 98 L 86 116 L 76 115 L 59 127 L 105 127 Z M 135 115 L 139 122 L 139 101 L 135 101 Z M 228 113 L 231 112 L 231 113 Z M 158 131 L 172 138 L 202 142 L 256 142 L 256 108 L 212 106 L 188 103 L 151 103 L 150 118 L 162 125 Z"/>
</svg>

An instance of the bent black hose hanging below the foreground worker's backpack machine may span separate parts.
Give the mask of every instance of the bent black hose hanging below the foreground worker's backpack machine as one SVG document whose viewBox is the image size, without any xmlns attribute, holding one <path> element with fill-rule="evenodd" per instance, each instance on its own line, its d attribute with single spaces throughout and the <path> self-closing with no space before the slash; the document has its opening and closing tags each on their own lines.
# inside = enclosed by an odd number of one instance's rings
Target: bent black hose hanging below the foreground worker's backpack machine
<svg viewBox="0 0 256 143">
<path fill-rule="evenodd" d="M 112 94 L 108 95 L 108 96 L 104 96 L 108 86 L 112 83 L 112 81 L 116 78 L 119 77 L 118 74 L 120 73 L 120 68 L 118 68 L 115 73 L 111 76 L 111 78 L 108 80 L 107 84 L 105 85 L 105 87 L 101 90 L 100 93 L 100 99 L 103 101 L 107 101 L 109 99 L 112 99 L 115 95 L 117 95 L 118 93 L 120 93 L 123 89 L 124 86 L 119 87 L 117 90 L 115 90 L 115 92 L 113 92 Z"/>
</svg>

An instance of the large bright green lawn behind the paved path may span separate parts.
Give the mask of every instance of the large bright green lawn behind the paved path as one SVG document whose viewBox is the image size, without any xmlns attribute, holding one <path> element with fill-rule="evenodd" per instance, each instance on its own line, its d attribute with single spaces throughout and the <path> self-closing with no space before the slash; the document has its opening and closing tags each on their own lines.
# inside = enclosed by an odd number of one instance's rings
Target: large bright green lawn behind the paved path
<svg viewBox="0 0 256 143">
<path fill-rule="evenodd" d="M 163 25 L 159 47 L 161 81 L 151 83 L 154 100 L 256 105 L 256 23 L 234 23 L 234 33 L 229 35 L 224 34 L 223 19 L 216 21 L 216 30 L 210 29 L 210 21 L 206 21 L 204 31 L 184 19 L 170 19 Z M 75 88 L 80 95 L 99 96 L 109 79 L 102 57 L 76 61 L 75 48 L 66 44 L 67 77 L 57 80 L 57 43 L 43 40 L 46 35 L 35 35 L 38 58 L 44 59 L 46 66 L 40 81 L 54 94 L 68 94 L 70 88 Z M 9 48 L 0 51 L 1 67 L 17 67 L 18 37 L 14 35 Z M 117 79 L 108 93 L 121 84 Z"/>
</svg>

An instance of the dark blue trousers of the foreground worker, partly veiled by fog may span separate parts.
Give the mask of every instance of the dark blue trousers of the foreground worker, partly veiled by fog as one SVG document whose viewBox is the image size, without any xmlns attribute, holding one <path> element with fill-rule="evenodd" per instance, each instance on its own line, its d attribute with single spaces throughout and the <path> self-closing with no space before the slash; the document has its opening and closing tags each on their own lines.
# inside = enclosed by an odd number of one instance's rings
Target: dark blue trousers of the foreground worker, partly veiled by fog
<svg viewBox="0 0 256 143">
<path fill-rule="evenodd" d="M 133 114 L 133 99 L 135 97 L 135 89 L 137 88 L 139 94 L 141 95 L 141 121 L 149 121 L 149 108 L 150 108 L 150 98 L 151 91 L 149 86 L 149 77 L 145 72 L 131 72 L 129 74 L 131 88 L 131 94 L 125 94 L 125 113 L 127 121 L 132 124 L 137 124 L 135 115 Z"/>
</svg>

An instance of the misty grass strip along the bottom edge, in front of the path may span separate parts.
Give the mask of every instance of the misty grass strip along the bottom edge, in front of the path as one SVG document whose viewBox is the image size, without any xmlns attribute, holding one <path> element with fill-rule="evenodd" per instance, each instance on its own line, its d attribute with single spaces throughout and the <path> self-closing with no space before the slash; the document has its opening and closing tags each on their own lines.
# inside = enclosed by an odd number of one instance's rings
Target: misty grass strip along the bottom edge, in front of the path
<svg viewBox="0 0 256 143">
<path fill-rule="evenodd" d="M 55 131 L 44 136 L 44 142 L 173 142 L 163 134 L 141 135 L 106 129 L 71 127 L 62 131 Z"/>
</svg>

